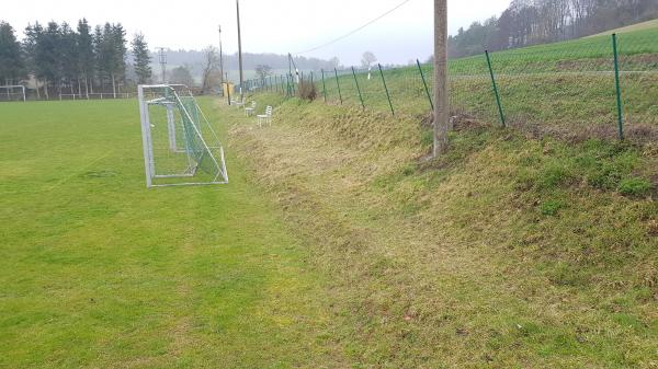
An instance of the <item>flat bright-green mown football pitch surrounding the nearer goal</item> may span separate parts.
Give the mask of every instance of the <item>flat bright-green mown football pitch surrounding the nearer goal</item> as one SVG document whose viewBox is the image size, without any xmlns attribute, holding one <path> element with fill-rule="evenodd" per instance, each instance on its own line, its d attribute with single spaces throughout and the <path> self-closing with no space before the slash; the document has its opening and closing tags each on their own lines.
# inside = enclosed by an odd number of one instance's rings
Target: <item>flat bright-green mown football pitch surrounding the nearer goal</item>
<svg viewBox="0 0 658 369">
<path fill-rule="evenodd" d="M 2 104 L 0 139 L 0 367 L 341 367 L 232 153 L 228 186 L 147 191 L 133 101 Z"/>
</svg>

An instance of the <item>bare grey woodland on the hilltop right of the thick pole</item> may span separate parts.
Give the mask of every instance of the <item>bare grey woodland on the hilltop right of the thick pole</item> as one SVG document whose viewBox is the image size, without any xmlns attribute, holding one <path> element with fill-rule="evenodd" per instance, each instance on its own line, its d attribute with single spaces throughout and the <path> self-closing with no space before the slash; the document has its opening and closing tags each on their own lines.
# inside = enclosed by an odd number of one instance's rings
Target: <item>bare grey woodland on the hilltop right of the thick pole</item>
<svg viewBox="0 0 658 369">
<path fill-rule="evenodd" d="M 452 58 L 579 38 L 658 18 L 656 0 L 513 0 L 449 38 Z"/>
</svg>

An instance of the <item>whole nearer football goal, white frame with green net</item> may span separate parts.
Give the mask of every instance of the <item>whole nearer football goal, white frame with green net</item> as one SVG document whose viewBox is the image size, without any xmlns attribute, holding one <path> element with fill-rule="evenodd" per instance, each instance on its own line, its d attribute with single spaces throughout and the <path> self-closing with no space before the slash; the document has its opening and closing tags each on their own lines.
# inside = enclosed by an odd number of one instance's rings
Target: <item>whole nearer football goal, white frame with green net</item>
<svg viewBox="0 0 658 369">
<path fill-rule="evenodd" d="M 219 138 L 184 85 L 138 87 L 146 186 L 227 184 Z"/>
</svg>

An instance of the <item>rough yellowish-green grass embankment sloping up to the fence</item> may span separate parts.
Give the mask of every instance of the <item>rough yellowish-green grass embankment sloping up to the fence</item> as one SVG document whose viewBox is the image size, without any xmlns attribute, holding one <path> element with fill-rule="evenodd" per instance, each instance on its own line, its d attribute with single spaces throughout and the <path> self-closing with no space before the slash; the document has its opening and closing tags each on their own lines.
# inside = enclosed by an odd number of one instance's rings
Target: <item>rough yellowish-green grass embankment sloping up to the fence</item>
<svg viewBox="0 0 658 369">
<path fill-rule="evenodd" d="M 658 151 L 258 95 L 232 145 L 333 278 L 354 368 L 658 366 Z M 227 111 L 230 112 L 230 111 Z"/>
</svg>

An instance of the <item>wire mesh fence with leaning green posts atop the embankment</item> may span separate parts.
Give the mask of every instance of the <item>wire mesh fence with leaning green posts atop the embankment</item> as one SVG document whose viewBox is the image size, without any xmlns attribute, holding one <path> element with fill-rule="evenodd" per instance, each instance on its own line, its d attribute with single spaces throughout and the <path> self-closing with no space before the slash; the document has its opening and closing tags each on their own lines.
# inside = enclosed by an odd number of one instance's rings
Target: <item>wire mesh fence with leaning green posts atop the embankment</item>
<svg viewBox="0 0 658 369">
<path fill-rule="evenodd" d="M 646 138 L 658 129 L 658 26 L 489 53 L 489 60 L 483 53 L 450 60 L 449 73 L 455 115 L 605 137 Z M 324 70 L 303 79 L 313 79 L 318 99 L 327 103 L 396 114 L 431 108 L 431 65 L 382 72 L 377 66 L 355 73 Z M 288 87 L 295 89 L 292 76 L 248 81 L 248 88 L 281 93 L 288 93 Z"/>
</svg>

